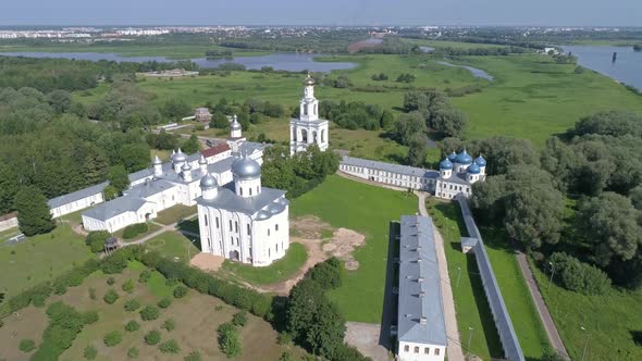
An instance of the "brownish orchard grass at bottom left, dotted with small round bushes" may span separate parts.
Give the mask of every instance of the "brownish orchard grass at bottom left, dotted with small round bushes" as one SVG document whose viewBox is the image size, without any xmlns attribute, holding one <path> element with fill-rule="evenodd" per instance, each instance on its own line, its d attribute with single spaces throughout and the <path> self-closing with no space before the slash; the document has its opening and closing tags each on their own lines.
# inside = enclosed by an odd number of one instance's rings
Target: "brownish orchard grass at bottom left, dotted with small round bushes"
<svg viewBox="0 0 642 361">
<path fill-rule="evenodd" d="M 156 304 L 164 296 L 155 291 L 156 285 L 137 282 L 138 274 L 144 269 L 145 266 L 141 264 L 133 264 L 122 274 L 112 275 L 115 278 L 112 288 L 120 295 L 119 300 L 113 304 L 107 304 L 102 300 L 102 296 L 110 287 L 106 283 L 107 277 L 101 272 L 90 275 L 81 286 L 71 287 L 65 295 L 52 296 L 48 299 L 48 303 L 62 300 L 78 311 L 95 310 L 99 313 L 99 321 L 83 328 L 72 347 L 61 356 L 61 360 L 84 360 L 83 352 L 89 345 L 98 350 L 97 360 L 126 360 L 127 349 L 131 347 L 138 348 L 140 358 L 146 360 L 182 360 L 193 350 L 198 350 L 203 360 L 225 359 L 218 347 L 217 327 L 230 321 L 238 310 L 214 297 L 190 290 L 185 298 L 173 299 L 168 309 L 160 309 L 158 320 L 141 321 L 138 312 L 126 312 L 123 309 L 124 302 L 128 299 L 136 299 L 143 306 Z M 164 277 L 157 272 L 152 274 L 164 286 Z M 135 282 L 135 289 L 131 295 L 121 290 L 121 285 L 126 279 Z M 90 287 L 96 289 L 97 298 L 95 300 L 89 297 L 88 289 Z M 173 287 L 164 287 L 173 289 Z M 20 351 L 17 345 L 23 338 L 34 339 L 36 346 L 40 344 L 42 331 L 47 325 L 45 310 L 45 308 L 29 307 L 21 311 L 20 316 L 11 315 L 4 319 L 4 326 L 0 328 L 0 357 L 4 357 L 7 360 L 28 360 L 30 353 Z M 171 332 L 160 327 L 168 319 L 174 320 L 176 325 Z M 124 329 L 124 325 L 131 320 L 136 320 L 140 324 L 138 331 L 126 332 Z M 175 339 L 181 351 L 175 356 L 163 354 L 158 346 L 147 346 L 143 341 L 143 337 L 151 329 L 161 331 L 161 343 Z M 112 331 L 121 331 L 123 341 L 115 347 L 107 347 L 102 337 Z M 235 360 L 277 360 L 286 349 L 293 353 L 294 359 L 299 359 L 305 354 L 298 348 L 277 345 L 276 336 L 276 332 L 270 324 L 248 314 L 247 325 L 239 331 L 243 354 Z"/>
</svg>

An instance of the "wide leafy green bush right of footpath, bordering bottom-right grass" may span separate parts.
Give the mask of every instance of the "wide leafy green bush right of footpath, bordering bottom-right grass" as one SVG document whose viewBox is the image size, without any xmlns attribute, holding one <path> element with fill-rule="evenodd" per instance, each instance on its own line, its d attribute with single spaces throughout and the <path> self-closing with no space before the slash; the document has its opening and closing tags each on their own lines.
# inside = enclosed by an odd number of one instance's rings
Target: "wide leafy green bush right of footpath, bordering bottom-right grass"
<svg viewBox="0 0 642 361">
<path fill-rule="evenodd" d="M 572 256 L 564 252 L 551 254 L 548 262 L 553 264 L 558 277 L 554 277 L 566 289 L 584 295 L 603 295 L 610 289 L 610 279 L 602 270 L 594 265 L 580 262 Z"/>
</svg>

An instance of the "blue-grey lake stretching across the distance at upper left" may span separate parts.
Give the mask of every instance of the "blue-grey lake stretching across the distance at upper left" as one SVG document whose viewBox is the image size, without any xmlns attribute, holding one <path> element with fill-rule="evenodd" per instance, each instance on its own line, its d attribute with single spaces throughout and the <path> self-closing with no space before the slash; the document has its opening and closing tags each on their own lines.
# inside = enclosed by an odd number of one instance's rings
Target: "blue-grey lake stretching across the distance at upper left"
<svg viewBox="0 0 642 361">
<path fill-rule="evenodd" d="M 110 60 L 115 62 L 147 62 L 157 61 L 159 63 L 175 62 L 175 60 L 165 57 L 123 57 L 111 52 L 0 52 L 5 57 L 28 57 L 28 58 L 64 58 L 76 60 Z M 346 70 L 357 66 L 350 62 L 317 62 L 316 57 L 323 54 L 304 54 L 304 53 L 273 53 L 262 57 L 234 57 L 230 59 L 217 58 L 196 58 L 190 59 L 201 69 L 217 67 L 225 63 L 243 64 L 249 70 L 260 70 L 263 66 L 272 66 L 277 71 L 288 72 L 323 72 L 329 73 L 335 70 Z"/>
</svg>

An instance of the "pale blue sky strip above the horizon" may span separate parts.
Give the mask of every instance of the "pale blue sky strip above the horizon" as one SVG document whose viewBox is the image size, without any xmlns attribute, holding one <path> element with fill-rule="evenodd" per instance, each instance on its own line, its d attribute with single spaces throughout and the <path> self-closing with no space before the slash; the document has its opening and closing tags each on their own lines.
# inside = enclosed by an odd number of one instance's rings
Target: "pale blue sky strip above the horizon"
<svg viewBox="0 0 642 361">
<path fill-rule="evenodd" d="M 0 0 L 0 25 L 642 26 L 642 0 Z"/>
</svg>

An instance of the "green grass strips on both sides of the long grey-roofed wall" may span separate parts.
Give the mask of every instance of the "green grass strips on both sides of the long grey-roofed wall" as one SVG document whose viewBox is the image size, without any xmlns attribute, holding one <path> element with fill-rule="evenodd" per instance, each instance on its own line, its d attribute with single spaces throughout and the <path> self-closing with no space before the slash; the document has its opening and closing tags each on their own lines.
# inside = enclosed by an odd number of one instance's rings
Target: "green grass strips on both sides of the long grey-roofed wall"
<svg viewBox="0 0 642 361">
<path fill-rule="evenodd" d="M 484 360 L 502 357 L 502 345 L 494 327 L 493 315 L 486 302 L 474 256 L 461 252 L 460 237 L 467 235 L 467 231 L 462 224 L 459 208 L 455 203 L 436 200 L 429 200 L 427 208 L 444 237 L 448 274 L 450 282 L 454 283 L 453 295 L 457 323 L 465 347 L 468 346 L 468 327 L 472 327 L 471 352 Z M 548 341 L 517 259 L 510 250 L 501 247 L 499 241 L 491 237 L 485 229 L 482 229 L 482 233 L 522 351 L 527 358 L 539 359 L 548 347 Z M 461 269 L 460 276 L 458 267 Z"/>
</svg>

